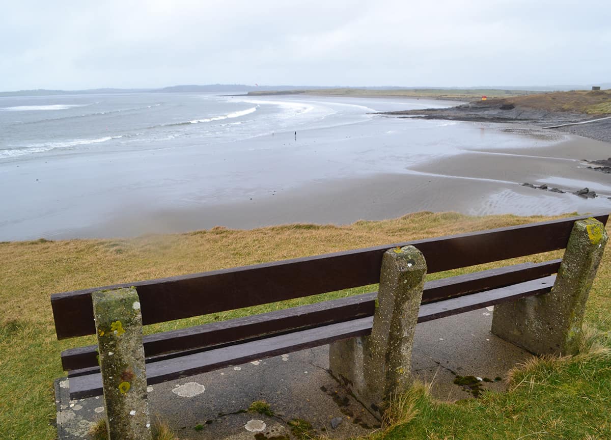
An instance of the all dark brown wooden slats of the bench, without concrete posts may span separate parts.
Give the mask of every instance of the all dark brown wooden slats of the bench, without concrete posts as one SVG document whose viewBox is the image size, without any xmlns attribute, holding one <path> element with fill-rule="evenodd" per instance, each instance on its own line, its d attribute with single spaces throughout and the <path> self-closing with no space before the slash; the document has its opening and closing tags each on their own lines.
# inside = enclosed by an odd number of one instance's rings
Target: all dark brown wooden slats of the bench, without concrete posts
<svg viewBox="0 0 611 440">
<path fill-rule="evenodd" d="M 380 281 L 382 255 L 415 246 L 426 273 L 555 251 L 567 246 L 576 221 L 523 226 L 409 241 L 373 248 L 264 263 L 51 296 L 58 339 L 96 333 L 92 293 L 135 287 L 144 325 L 301 298 Z M 594 218 L 606 224 L 608 215 Z M 604 228 L 603 234 L 604 234 Z M 566 255 L 566 254 L 565 254 Z M 426 282 L 417 321 L 424 322 L 551 291 L 561 260 L 521 263 Z M 589 288 L 589 287 L 588 287 Z M 325 345 L 371 333 L 376 292 L 144 336 L 148 384 L 228 365 Z M 495 310 L 496 314 L 496 310 Z M 102 393 L 97 346 L 61 354 L 70 397 Z"/>
</svg>

